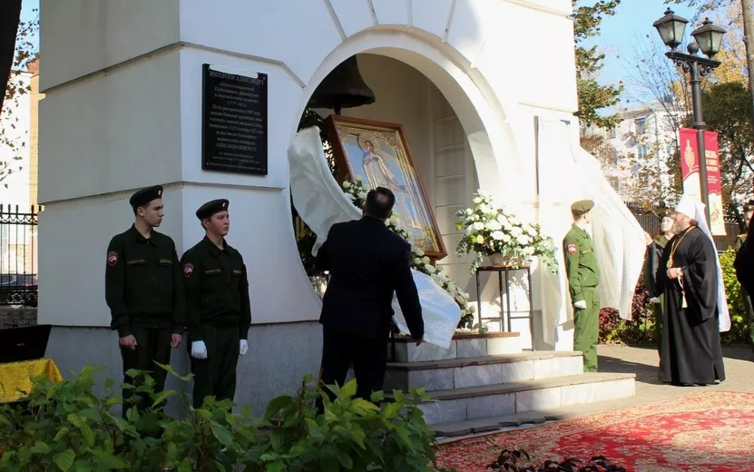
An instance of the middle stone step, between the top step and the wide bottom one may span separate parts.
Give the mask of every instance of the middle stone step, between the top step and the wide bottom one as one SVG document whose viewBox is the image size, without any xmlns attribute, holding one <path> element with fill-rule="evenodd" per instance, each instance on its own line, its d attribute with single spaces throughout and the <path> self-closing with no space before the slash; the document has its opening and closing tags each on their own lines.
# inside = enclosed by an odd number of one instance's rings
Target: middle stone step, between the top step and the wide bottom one
<svg viewBox="0 0 754 472">
<path fill-rule="evenodd" d="M 480 358 L 390 362 L 384 388 L 407 391 L 479 387 L 583 373 L 582 353 L 539 351 Z"/>
</svg>

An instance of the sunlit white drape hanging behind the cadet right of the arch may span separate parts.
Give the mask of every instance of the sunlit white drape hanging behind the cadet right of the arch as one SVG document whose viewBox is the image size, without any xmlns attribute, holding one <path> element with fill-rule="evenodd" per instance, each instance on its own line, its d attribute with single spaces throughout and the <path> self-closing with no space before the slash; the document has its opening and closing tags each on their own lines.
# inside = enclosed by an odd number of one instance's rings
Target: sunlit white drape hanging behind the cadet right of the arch
<svg viewBox="0 0 754 472">
<path fill-rule="evenodd" d="M 600 163 L 575 143 L 566 123 L 538 122 L 539 202 L 543 231 L 558 248 L 559 274 L 543 270 L 543 334 L 553 344 L 559 324 L 573 318 L 565 279 L 562 241 L 573 224 L 571 204 L 594 201 L 592 240 L 601 278 L 602 307 L 631 319 L 633 292 L 641 275 L 646 244 L 639 221 L 602 175 Z"/>
</svg>

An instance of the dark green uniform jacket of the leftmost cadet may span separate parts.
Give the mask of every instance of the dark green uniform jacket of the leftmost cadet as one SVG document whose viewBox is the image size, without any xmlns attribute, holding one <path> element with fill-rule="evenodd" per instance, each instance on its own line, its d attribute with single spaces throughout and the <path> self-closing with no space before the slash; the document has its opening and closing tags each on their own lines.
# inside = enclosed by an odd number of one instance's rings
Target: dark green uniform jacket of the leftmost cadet
<svg viewBox="0 0 754 472">
<path fill-rule="evenodd" d="M 152 231 L 147 240 L 135 226 L 115 235 L 107 247 L 104 279 L 111 328 L 121 338 L 131 334 L 133 325 L 178 334 L 185 329 L 181 266 L 170 236 Z"/>
</svg>

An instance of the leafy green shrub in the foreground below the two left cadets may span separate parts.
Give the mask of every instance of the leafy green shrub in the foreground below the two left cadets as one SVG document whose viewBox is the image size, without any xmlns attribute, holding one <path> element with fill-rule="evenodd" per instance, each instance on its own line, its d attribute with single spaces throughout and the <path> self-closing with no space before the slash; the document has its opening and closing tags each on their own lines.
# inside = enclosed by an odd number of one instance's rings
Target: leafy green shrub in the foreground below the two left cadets
<svg viewBox="0 0 754 472">
<path fill-rule="evenodd" d="M 181 379 L 181 386 L 191 379 L 161 367 Z M 122 403 L 113 380 L 107 380 L 102 396 L 93 394 L 99 370 L 86 367 L 59 383 L 34 378 L 23 404 L 0 407 L 0 469 L 431 471 L 435 465 L 434 433 L 416 407 L 428 399 L 423 390 L 412 391 L 410 398 L 394 392 L 394 401 L 377 406 L 354 397 L 355 380 L 332 387 L 330 401 L 306 378 L 295 397 L 274 398 L 262 418 L 251 418 L 248 408 L 231 412 L 230 400 L 207 398 L 202 408 L 191 408 L 184 388 L 154 394 L 152 379 L 132 371 L 142 380 L 134 389 L 153 404 L 142 411 L 127 406 L 123 419 L 113 415 Z M 325 412 L 318 414 L 314 401 L 323 395 Z M 182 418 L 163 409 L 174 396 L 186 409 Z M 380 402 L 382 392 L 372 399 Z"/>
</svg>

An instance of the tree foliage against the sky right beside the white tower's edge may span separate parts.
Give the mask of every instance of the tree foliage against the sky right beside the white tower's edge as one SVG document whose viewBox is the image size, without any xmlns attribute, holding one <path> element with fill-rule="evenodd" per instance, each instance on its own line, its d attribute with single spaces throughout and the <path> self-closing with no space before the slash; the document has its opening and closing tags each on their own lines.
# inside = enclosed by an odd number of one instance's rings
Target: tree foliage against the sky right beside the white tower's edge
<svg viewBox="0 0 754 472">
<path fill-rule="evenodd" d="M 609 128 L 617 123 L 617 118 L 614 114 L 602 116 L 600 112 L 619 102 L 623 87 L 622 84 L 599 84 L 597 78 L 602 69 L 604 54 L 596 45 L 587 48 L 583 43 L 600 34 L 603 17 L 615 15 L 621 0 L 572 1 L 579 95 L 579 110 L 575 115 L 587 126 Z"/>
</svg>

